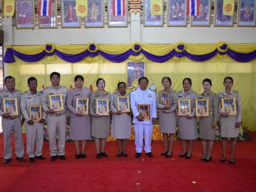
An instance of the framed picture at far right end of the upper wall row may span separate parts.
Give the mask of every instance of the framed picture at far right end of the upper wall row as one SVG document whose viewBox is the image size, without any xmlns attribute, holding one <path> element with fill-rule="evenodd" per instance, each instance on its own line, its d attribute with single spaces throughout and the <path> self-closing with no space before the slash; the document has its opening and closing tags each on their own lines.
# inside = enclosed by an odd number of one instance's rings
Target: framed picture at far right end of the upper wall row
<svg viewBox="0 0 256 192">
<path fill-rule="evenodd" d="M 253 27 L 256 17 L 256 0 L 238 0 L 237 26 Z"/>
</svg>

